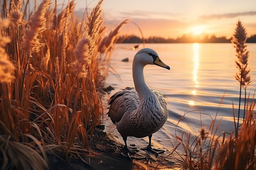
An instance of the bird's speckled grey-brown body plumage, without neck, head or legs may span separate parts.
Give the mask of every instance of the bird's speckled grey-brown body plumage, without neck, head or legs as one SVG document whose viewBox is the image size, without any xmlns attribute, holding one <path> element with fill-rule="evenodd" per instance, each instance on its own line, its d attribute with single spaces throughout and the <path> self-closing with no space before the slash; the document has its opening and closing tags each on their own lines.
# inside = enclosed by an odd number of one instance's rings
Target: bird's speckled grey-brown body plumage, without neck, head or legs
<svg viewBox="0 0 256 170">
<path fill-rule="evenodd" d="M 147 137 L 159 130 L 168 118 L 167 102 L 159 91 L 152 91 L 139 106 L 134 87 L 126 87 L 110 97 L 108 116 L 122 137 Z M 139 109 L 138 109 L 139 108 Z"/>
</svg>

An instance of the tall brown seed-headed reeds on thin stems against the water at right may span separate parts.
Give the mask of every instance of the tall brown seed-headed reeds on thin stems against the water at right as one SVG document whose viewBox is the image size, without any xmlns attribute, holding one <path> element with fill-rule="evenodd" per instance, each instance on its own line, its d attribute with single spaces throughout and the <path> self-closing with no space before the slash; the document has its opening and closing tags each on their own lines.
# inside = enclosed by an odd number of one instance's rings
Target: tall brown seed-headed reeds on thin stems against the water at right
<svg viewBox="0 0 256 170">
<path fill-rule="evenodd" d="M 249 51 L 247 51 L 245 44 L 247 40 L 247 33 L 242 22 L 239 20 L 236 24 L 236 29 L 231 42 L 236 48 L 236 67 L 238 68 L 238 73 L 236 73 L 236 80 L 240 82 L 240 96 L 239 96 L 239 108 L 238 108 L 238 121 L 237 127 L 239 126 L 239 116 L 240 116 L 240 104 L 241 104 L 241 88 L 245 90 L 245 104 L 246 104 L 246 88 L 252 82 L 251 76 L 249 75 L 250 69 L 247 68 Z M 244 115 L 243 120 L 245 120 L 245 104 L 244 104 Z"/>
</svg>

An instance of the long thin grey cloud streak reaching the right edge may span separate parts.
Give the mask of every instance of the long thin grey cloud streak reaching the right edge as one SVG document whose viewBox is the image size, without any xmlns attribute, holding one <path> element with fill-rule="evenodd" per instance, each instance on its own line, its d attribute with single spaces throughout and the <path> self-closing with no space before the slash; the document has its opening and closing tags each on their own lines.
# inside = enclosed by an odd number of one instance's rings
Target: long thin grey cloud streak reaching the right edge
<svg viewBox="0 0 256 170">
<path fill-rule="evenodd" d="M 256 15 L 256 11 L 213 14 L 213 15 L 202 15 L 202 16 L 199 17 L 199 19 L 213 20 L 213 19 L 221 19 L 221 18 L 235 18 L 237 16 L 245 16 L 245 15 Z"/>
</svg>

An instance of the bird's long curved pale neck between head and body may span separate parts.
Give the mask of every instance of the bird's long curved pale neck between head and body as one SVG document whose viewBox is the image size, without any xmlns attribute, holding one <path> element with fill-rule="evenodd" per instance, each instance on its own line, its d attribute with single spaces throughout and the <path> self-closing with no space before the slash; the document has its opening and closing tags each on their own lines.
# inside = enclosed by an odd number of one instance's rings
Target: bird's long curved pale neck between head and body
<svg viewBox="0 0 256 170">
<path fill-rule="evenodd" d="M 145 82 L 144 66 L 145 65 L 137 62 L 136 60 L 133 60 L 132 77 L 140 101 L 146 99 L 148 94 L 153 93 Z"/>
</svg>

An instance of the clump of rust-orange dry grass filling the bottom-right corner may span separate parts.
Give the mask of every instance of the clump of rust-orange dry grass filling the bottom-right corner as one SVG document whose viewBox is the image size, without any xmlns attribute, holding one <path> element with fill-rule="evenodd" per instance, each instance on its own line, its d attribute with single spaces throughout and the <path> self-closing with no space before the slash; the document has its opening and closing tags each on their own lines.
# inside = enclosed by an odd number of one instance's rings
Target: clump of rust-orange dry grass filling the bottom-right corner
<svg viewBox="0 0 256 170">
<path fill-rule="evenodd" d="M 249 104 L 250 103 L 250 104 Z M 216 157 L 216 170 L 255 170 L 256 117 L 255 100 L 247 102 L 247 116 L 235 137 L 233 134 L 220 147 Z"/>
</svg>

